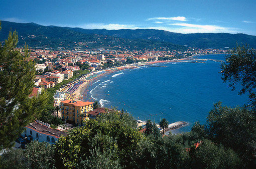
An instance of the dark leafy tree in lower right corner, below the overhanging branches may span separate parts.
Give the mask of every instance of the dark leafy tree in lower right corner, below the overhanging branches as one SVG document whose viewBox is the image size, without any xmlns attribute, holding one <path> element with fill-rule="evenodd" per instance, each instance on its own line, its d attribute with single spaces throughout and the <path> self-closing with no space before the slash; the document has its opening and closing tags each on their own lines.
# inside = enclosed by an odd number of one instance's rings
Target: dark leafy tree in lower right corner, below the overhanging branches
<svg viewBox="0 0 256 169">
<path fill-rule="evenodd" d="M 246 107 L 230 108 L 216 103 L 207 117 L 206 135 L 232 148 L 253 168 L 256 165 L 256 117 Z"/>
</svg>

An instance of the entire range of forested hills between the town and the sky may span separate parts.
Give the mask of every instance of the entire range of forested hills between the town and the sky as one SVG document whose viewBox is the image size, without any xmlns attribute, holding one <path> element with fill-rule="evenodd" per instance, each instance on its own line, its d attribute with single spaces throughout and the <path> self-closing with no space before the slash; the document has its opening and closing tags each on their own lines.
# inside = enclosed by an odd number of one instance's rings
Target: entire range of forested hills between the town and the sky
<svg viewBox="0 0 256 169">
<path fill-rule="evenodd" d="M 16 30 L 19 44 L 26 42 L 30 47 L 78 47 L 78 42 L 86 42 L 87 48 L 160 48 L 184 50 L 186 47 L 233 48 L 238 44 L 248 44 L 256 48 L 256 36 L 227 33 L 180 34 L 154 29 L 82 29 L 56 26 L 42 26 L 34 23 L 22 24 L 1 21 L 0 41 L 7 38 L 9 31 Z"/>
</svg>

